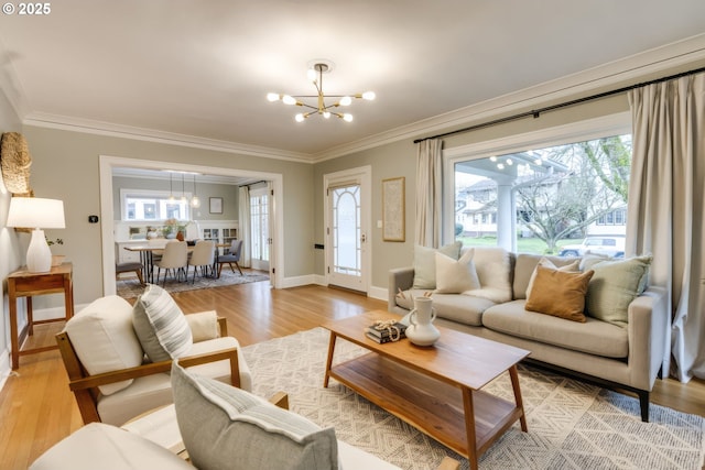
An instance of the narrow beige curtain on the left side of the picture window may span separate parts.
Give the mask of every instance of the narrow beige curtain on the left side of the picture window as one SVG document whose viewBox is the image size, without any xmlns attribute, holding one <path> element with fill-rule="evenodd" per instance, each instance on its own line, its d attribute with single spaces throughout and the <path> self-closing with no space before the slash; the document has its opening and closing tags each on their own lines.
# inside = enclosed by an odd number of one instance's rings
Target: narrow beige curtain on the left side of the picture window
<svg viewBox="0 0 705 470">
<path fill-rule="evenodd" d="M 443 199 L 443 141 L 419 142 L 416 150 L 416 226 L 415 242 L 422 247 L 441 245 Z"/>
</svg>

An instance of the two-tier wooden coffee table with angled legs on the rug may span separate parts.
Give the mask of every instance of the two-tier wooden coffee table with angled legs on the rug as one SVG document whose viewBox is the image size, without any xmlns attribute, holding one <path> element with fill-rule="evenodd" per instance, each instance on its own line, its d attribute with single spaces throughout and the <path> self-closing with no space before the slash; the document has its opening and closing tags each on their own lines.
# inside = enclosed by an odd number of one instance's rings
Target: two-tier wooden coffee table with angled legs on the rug
<svg viewBox="0 0 705 470">
<path fill-rule="evenodd" d="M 337 380 L 467 457 L 471 469 L 514 422 L 528 431 L 517 363 L 530 351 L 442 327 L 441 339 L 424 348 L 409 339 L 379 345 L 365 336 L 375 320 L 391 318 L 399 316 L 373 310 L 322 325 L 330 330 L 323 386 Z M 337 338 L 371 352 L 334 365 Z M 506 371 L 514 403 L 480 390 Z"/>
</svg>

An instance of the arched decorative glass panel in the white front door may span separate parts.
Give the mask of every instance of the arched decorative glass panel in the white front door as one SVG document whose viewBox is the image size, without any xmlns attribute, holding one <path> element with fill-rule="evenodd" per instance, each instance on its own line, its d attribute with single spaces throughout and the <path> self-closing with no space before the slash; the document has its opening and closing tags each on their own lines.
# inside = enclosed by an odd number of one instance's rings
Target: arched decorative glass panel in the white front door
<svg viewBox="0 0 705 470">
<path fill-rule="evenodd" d="M 361 276 L 359 185 L 333 189 L 333 242 L 334 271 Z"/>
</svg>

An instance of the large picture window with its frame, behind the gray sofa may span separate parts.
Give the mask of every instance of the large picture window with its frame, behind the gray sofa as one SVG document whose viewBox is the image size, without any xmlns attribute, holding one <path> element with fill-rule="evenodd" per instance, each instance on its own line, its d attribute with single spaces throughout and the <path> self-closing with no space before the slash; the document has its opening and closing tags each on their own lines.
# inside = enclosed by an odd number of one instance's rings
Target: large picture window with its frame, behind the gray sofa
<svg viewBox="0 0 705 470">
<path fill-rule="evenodd" d="M 558 253 L 586 236 L 623 237 L 631 161 L 629 123 L 623 121 L 604 125 L 595 120 L 579 131 L 565 127 L 555 134 L 541 131 L 444 153 L 446 174 L 452 175 L 445 184 L 454 198 L 448 201 L 446 190 L 444 207 L 456 210 L 452 217 L 444 214 L 444 220 L 462 225 L 456 240 Z M 446 226 L 444 233 L 449 233 Z"/>
</svg>

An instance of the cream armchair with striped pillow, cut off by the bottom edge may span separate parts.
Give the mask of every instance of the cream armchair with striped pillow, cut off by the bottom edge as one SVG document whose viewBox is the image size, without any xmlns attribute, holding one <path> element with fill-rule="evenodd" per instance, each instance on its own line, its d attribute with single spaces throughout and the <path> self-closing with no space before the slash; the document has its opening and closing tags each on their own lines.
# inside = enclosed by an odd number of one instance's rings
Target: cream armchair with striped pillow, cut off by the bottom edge
<svg viewBox="0 0 705 470">
<path fill-rule="evenodd" d="M 400 470 L 337 440 L 333 428 L 289 412 L 285 394 L 268 402 L 176 364 L 172 382 L 173 405 L 122 429 L 85 426 L 42 455 L 30 470 L 88 470 L 108 463 L 116 470 L 193 468 L 176 455 L 200 470 Z M 437 467 L 458 469 L 459 462 L 448 457 Z"/>
</svg>

